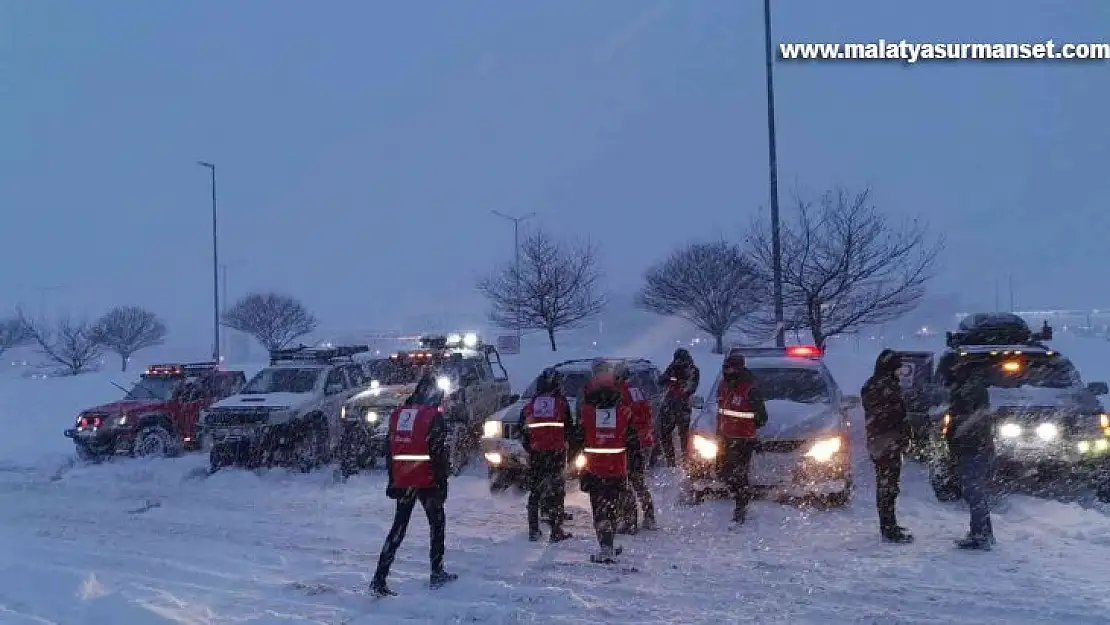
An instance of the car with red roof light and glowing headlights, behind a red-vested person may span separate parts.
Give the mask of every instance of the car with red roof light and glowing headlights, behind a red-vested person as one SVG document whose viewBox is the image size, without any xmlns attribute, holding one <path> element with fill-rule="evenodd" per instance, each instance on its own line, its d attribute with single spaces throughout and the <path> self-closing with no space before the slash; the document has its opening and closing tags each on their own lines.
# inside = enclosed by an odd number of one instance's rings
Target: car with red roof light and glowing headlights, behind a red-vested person
<svg viewBox="0 0 1110 625">
<path fill-rule="evenodd" d="M 830 505 L 851 498 L 850 407 L 836 381 L 810 345 L 737 349 L 756 379 L 767 406 L 767 425 L 758 433 L 749 484 L 756 494 L 777 500 L 818 497 Z M 720 453 L 717 387 L 694 397 L 690 457 L 680 497 L 696 504 L 708 494 L 726 492 L 717 480 Z"/>
</svg>

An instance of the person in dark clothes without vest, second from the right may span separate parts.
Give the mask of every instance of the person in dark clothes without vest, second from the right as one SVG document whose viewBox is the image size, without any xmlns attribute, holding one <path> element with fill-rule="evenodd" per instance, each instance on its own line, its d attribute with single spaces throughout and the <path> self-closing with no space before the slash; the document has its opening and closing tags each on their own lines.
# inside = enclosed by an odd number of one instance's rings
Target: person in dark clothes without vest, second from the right
<svg viewBox="0 0 1110 625">
<path fill-rule="evenodd" d="M 897 503 L 901 483 L 902 454 L 909 448 L 909 421 L 898 370 L 901 356 L 882 350 L 875 361 L 875 374 L 864 384 L 867 452 L 875 464 L 875 504 L 879 512 L 879 534 L 888 543 L 911 543 L 914 536 L 898 525 Z"/>
</svg>

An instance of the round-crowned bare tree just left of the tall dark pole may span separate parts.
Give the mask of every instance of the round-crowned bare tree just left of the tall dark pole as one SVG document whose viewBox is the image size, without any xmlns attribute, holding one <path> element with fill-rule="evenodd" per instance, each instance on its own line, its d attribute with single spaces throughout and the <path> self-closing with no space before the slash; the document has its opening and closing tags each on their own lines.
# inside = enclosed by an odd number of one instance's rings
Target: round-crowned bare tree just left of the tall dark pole
<svg viewBox="0 0 1110 625">
<path fill-rule="evenodd" d="M 725 334 L 759 310 L 764 299 L 759 279 L 759 271 L 739 245 L 727 241 L 693 243 L 647 270 L 636 304 L 689 321 L 714 337 L 714 352 L 720 354 Z"/>
</svg>

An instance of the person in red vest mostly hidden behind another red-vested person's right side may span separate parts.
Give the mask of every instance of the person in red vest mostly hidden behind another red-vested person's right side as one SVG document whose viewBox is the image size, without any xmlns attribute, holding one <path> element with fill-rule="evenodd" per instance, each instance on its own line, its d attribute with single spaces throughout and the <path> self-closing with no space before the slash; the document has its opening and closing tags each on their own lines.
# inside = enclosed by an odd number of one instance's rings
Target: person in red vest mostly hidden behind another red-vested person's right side
<svg viewBox="0 0 1110 625">
<path fill-rule="evenodd" d="M 616 365 L 617 383 L 620 385 L 622 399 L 632 406 L 632 426 L 636 430 L 638 447 L 628 450 L 628 488 L 625 492 L 624 521 L 617 533 L 635 534 L 639 530 L 655 530 L 655 503 L 652 501 L 652 490 L 647 486 L 647 465 L 652 447 L 655 445 L 655 424 L 652 419 L 652 403 L 644 393 L 629 383 L 628 366 Z M 638 520 L 636 500 L 644 508 L 644 523 Z"/>
</svg>

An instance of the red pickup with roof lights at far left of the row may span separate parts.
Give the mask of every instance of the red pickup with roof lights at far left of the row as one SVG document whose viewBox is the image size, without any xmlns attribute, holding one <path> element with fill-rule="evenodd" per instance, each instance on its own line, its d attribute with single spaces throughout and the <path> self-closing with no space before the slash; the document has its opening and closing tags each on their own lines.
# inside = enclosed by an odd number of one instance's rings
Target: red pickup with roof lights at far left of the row
<svg viewBox="0 0 1110 625">
<path fill-rule="evenodd" d="M 152 365 L 123 399 L 82 411 L 64 434 L 82 460 L 178 455 L 199 448 L 201 411 L 245 383 L 242 371 L 221 371 L 215 363 Z"/>
</svg>

